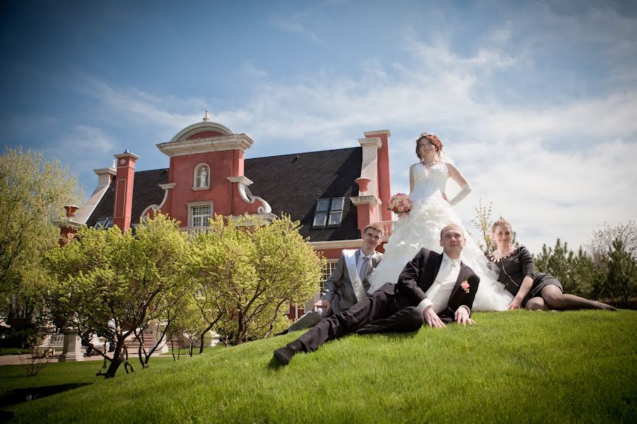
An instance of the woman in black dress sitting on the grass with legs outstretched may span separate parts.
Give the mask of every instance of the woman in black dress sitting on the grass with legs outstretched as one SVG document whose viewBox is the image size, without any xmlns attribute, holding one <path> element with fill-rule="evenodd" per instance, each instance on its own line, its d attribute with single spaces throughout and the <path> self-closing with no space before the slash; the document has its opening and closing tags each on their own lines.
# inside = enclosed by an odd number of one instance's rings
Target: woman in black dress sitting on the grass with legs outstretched
<svg viewBox="0 0 637 424">
<path fill-rule="evenodd" d="M 602 302 L 565 294 L 557 278 L 535 272 L 529 249 L 511 245 L 513 232 L 507 220 L 500 218 L 495 221 L 491 230 L 498 249 L 489 255 L 489 260 L 500 269 L 498 281 L 515 296 L 509 305 L 510 310 L 520 307 L 526 307 L 527 310 L 615 310 Z"/>
</svg>

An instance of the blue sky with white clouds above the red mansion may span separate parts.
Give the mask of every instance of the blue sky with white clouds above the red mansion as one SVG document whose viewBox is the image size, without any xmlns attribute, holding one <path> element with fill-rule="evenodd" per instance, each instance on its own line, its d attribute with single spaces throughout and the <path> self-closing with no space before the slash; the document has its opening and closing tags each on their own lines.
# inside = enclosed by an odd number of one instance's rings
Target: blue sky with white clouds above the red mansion
<svg viewBox="0 0 637 424">
<path fill-rule="evenodd" d="M 389 129 L 392 192 L 438 134 L 474 188 L 467 227 L 492 201 L 534 252 L 637 216 L 634 1 L 9 0 L 0 57 L 0 142 L 88 194 L 125 149 L 168 167 L 156 143 L 210 108 L 248 158 Z"/>
</svg>

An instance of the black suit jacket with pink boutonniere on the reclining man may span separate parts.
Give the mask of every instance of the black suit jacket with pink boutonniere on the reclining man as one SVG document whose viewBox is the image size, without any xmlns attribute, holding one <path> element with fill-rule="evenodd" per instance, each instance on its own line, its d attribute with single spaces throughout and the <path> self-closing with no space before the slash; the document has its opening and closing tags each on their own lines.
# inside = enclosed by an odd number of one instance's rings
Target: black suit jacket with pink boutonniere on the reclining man
<svg viewBox="0 0 637 424">
<path fill-rule="evenodd" d="M 425 292 L 433 284 L 441 264 L 442 254 L 429 249 L 420 249 L 420 252 L 403 268 L 398 277 L 398 283 L 385 284 L 379 290 L 383 290 L 389 295 L 396 295 L 396 302 L 402 303 L 403 306 L 418 306 L 427 298 Z M 465 280 L 469 283 L 469 292 L 461 288 L 461 284 Z M 469 314 L 471 314 L 479 283 L 480 277 L 469 266 L 461 263 L 447 309 L 438 314 L 440 319 L 445 322 L 453 321 L 456 311 L 462 305 L 469 307 Z"/>
</svg>

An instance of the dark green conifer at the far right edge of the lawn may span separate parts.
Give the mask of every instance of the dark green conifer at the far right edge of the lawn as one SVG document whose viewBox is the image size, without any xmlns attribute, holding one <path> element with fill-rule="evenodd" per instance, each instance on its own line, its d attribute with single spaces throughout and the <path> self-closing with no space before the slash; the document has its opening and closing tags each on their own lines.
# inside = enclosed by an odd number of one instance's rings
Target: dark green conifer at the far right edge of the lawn
<svg viewBox="0 0 637 424">
<path fill-rule="evenodd" d="M 623 240 L 617 238 L 613 241 L 607 264 L 609 293 L 623 305 L 628 305 L 629 300 L 637 295 L 637 260 L 626 250 Z"/>
</svg>

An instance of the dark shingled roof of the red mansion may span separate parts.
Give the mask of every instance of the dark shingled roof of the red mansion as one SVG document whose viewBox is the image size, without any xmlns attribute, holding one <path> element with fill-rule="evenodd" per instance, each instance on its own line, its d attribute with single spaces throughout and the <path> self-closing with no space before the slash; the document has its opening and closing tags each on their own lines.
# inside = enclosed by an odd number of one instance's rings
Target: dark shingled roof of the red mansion
<svg viewBox="0 0 637 424">
<path fill-rule="evenodd" d="M 253 181 L 250 191 L 267 201 L 275 215 L 287 213 L 301 221 L 301 234 L 312 242 L 353 240 L 360 238 L 360 232 L 350 196 L 358 196 L 355 179 L 361 165 L 362 148 L 355 147 L 246 159 L 243 173 Z M 168 169 L 135 172 L 131 225 L 139 224 L 145 208 L 161 204 L 164 191 L 159 184 L 167 182 Z M 333 197 L 345 197 L 340 226 L 312 228 L 316 201 Z M 112 217 L 114 200 L 113 181 L 86 225 Z"/>
</svg>

